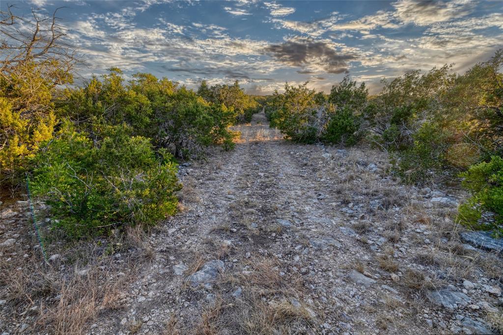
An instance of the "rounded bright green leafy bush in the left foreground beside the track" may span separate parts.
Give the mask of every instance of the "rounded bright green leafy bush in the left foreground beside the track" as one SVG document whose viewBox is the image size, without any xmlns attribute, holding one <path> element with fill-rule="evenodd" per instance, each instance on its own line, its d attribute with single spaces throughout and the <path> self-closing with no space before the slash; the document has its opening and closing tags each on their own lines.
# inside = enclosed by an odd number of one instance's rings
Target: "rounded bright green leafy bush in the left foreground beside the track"
<svg viewBox="0 0 503 335">
<path fill-rule="evenodd" d="M 65 122 L 33 159 L 33 194 L 50 205 L 52 228 L 68 237 L 154 224 L 176 211 L 180 185 L 171 155 L 156 157 L 149 140 L 129 136 L 125 126 L 106 132 L 95 145 Z"/>
</svg>

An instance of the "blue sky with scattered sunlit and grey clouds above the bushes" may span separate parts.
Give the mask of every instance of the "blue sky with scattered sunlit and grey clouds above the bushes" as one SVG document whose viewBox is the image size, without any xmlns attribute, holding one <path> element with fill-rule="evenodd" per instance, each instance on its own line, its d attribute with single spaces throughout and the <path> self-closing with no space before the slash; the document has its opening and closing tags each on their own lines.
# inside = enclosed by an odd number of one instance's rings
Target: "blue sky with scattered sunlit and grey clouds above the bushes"
<svg viewBox="0 0 503 335">
<path fill-rule="evenodd" d="M 349 74 L 376 93 L 382 78 L 454 63 L 462 73 L 503 47 L 501 1 L 8 2 L 25 17 L 58 7 L 80 75 L 117 66 L 190 88 L 238 80 L 250 94 L 285 81 L 328 93 Z"/>
</svg>

